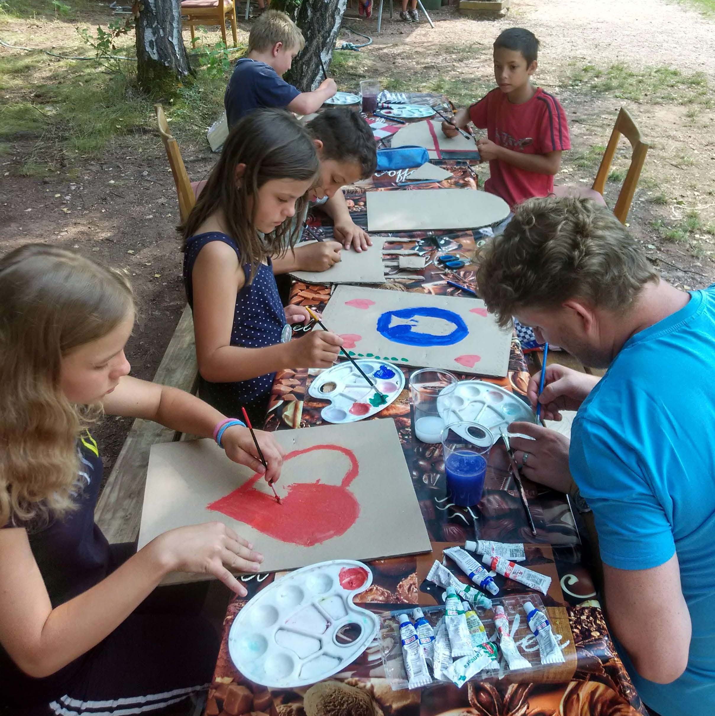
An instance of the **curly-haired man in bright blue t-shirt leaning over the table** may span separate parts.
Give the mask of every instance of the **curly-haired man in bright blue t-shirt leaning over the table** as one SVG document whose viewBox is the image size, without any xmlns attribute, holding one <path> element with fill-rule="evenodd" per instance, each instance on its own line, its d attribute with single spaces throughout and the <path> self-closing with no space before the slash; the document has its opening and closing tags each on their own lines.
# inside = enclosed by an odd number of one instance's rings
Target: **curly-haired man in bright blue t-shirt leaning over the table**
<svg viewBox="0 0 715 716">
<path fill-rule="evenodd" d="M 643 702 L 715 714 L 715 288 L 667 284 L 607 208 L 575 198 L 519 205 L 476 281 L 502 324 L 608 367 L 600 380 L 548 367 L 542 416 L 578 411 L 570 445 L 519 422 L 534 440 L 514 438 L 515 457 L 592 510 L 610 627 Z"/>
</svg>

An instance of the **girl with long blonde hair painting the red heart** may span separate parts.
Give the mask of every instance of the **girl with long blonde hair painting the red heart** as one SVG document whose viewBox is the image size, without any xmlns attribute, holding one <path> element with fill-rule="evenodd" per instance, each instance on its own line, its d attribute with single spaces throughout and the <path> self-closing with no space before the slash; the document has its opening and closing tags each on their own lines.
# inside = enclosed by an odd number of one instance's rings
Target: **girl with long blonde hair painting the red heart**
<svg viewBox="0 0 715 716">
<path fill-rule="evenodd" d="M 102 480 L 87 427 L 102 411 L 210 437 L 278 478 L 282 451 L 181 390 L 129 377 L 133 296 L 121 274 L 33 244 L 0 259 L 0 710 L 13 716 L 165 712 L 211 679 L 216 635 L 196 617 L 137 609 L 173 571 L 262 557 L 222 523 L 172 530 L 123 560 L 94 522 Z M 126 550 L 123 550 L 126 552 Z"/>
</svg>

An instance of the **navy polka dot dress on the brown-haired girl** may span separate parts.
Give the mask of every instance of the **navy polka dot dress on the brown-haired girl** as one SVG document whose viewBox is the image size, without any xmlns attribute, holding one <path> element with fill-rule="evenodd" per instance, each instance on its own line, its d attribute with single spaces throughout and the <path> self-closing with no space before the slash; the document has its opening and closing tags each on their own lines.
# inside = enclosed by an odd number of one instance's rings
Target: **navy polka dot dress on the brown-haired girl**
<svg viewBox="0 0 715 716">
<path fill-rule="evenodd" d="M 234 325 L 231 328 L 231 345 L 242 348 L 263 348 L 281 342 L 281 332 L 286 324 L 285 311 L 278 295 L 273 267 L 269 263 L 261 263 L 256 276 L 249 284 L 251 268 L 242 263 L 241 253 L 236 241 L 225 233 L 211 231 L 192 236 L 186 242 L 186 253 L 183 258 L 183 283 L 186 298 L 193 309 L 193 286 L 191 274 L 193 264 L 199 251 L 211 241 L 223 241 L 236 251 L 239 263 L 242 264 L 246 282 L 236 294 Z M 273 385 L 275 373 L 267 373 L 257 378 L 238 383 L 211 383 L 199 376 L 198 395 L 210 405 L 221 410 L 229 417 L 241 416 L 241 407 L 251 417 L 251 422 L 263 425 L 268 398 Z"/>
</svg>

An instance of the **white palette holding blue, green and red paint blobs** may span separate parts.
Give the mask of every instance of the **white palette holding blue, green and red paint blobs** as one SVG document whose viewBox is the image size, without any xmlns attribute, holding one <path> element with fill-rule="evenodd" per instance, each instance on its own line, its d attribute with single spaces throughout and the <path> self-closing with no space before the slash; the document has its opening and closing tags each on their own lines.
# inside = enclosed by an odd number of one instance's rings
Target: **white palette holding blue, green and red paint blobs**
<svg viewBox="0 0 715 716">
<path fill-rule="evenodd" d="M 308 395 L 320 400 L 330 400 L 320 412 L 326 422 L 355 422 L 370 417 L 397 400 L 405 387 L 405 375 L 392 363 L 385 361 L 357 359 L 355 361 L 378 390 L 387 397 L 380 404 L 375 391 L 368 385 L 349 361 L 324 370 L 310 384 Z"/>
</svg>

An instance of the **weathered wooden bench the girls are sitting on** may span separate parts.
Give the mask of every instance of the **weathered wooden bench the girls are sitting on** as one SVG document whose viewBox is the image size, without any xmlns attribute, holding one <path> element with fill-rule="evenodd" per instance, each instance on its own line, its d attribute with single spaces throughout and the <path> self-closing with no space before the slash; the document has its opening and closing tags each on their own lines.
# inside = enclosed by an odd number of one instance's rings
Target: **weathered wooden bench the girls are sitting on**
<svg viewBox="0 0 715 716">
<path fill-rule="evenodd" d="M 186 306 L 154 382 L 196 392 L 197 376 L 193 317 Z M 180 432 L 151 420 L 133 422 L 95 510 L 95 521 L 110 543 L 134 542 L 138 538 L 149 450 L 155 442 L 180 439 Z"/>
</svg>

